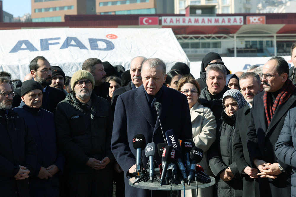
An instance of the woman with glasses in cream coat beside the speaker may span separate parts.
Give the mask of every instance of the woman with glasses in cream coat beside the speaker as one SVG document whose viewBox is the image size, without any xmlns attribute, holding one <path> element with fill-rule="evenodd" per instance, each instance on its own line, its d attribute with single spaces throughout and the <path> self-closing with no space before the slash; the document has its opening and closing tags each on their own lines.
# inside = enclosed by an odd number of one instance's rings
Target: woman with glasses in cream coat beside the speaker
<svg viewBox="0 0 296 197">
<path fill-rule="evenodd" d="M 198 102 L 200 87 L 191 76 L 183 76 L 178 82 L 178 91 L 186 95 L 192 124 L 192 139 L 195 146 L 202 149 L 204 155 L 198 164 L 207 175 L 213 176 L 207 162 L 207 150 L 216 139 L 216 121 L 213 112 Z M 185 196 L 196 196 L 196 190 L 186 190 Z M 198 196 L 213 196 L 213 186 L 198 189 Z"/>
</svg>

